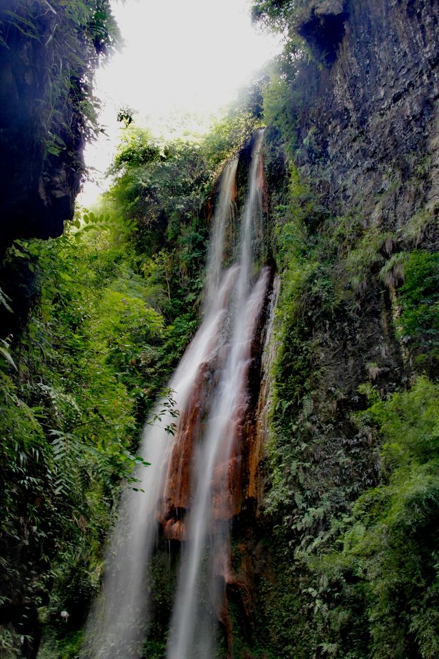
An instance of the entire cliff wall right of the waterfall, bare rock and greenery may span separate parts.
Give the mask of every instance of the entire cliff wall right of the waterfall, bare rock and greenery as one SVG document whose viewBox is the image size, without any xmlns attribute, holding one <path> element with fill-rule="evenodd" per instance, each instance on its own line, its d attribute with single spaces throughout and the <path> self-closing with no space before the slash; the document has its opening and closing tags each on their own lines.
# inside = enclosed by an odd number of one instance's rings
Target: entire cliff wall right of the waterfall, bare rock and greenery
<svg viewBox="0 0 439 659">
<path fill-rule="evenodd" d="M 414 472 L 437 451 L 414 446 L 438 413 L 439 10 L 303 5 L 258 3 L 305 47 L 265 92 L 281 294 L 261 515 L 234 529 L 237 638 L 245 657 L 433 658 L 436 503 Z"/>
</svg>

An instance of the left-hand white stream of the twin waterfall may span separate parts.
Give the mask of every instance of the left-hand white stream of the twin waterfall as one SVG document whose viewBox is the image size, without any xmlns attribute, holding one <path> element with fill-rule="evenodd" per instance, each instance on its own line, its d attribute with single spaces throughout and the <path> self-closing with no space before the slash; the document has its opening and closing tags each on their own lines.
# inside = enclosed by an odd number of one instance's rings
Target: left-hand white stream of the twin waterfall
<svg viewBox="0 0 439 659">
<path fill-rule="evenodd" d="M 220 207 L 213 220 L 215 248 L 209 257 L 210 273 L 220 273 L 224 225 L 230 220 L 236 166 L 237 162 L 232 161 L 226 167 L 226 176 L 220 184 Z M 200 366 L 215 349 L 236 275 L 237 268 L 230 268 L 221 282 L 219 275 L 215 275 L 216 284 L 211 282 L 209 312 L 168 385 L 178 411 L 187 405 Z M 175 421 L 171 411 L 161 413 L 164 402 L 159 401 L 152 413 L 152 419 L 160 416 L 160 425 L 146 424 L 143 430 L 139 454 L 151 466 L 140 465 L 135 472 L 138 491 L 127 487 L 123 492 L 119 522 L 108 543 L 102 594 L 93 608 L 86 634 L 86 652 L 93 659 L 137 658 L 141 654 L 148 620 L 145 571 L 156 542 L 156 506 L 163 494 L 173 441 L 167 428 Z"/>
</svg>

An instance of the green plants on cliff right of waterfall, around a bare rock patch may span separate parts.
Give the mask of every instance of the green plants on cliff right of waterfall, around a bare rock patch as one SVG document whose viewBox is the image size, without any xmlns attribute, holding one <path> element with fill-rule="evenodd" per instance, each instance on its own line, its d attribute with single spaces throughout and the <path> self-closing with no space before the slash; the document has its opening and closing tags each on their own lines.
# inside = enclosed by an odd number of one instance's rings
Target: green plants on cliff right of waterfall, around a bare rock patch
<svg viewBox="0 0 439 659">
<path fill-rule="evenodd" d="M 294 631 L 285 632 L 282 616 L 272 616 L 273 647 L 276 656 L 289 647 L 304 659 L 310 652 L 340 659 L 433 658 L 438 388 L 420 378 L 410 391 L 381 401 L 364 386 L 360 393 L 370 397 L 370 408 L 344 417 L 338 410 L 346 396 L 334 384 L 333 406 L 322 400 L 320 391 L 327 397 L 330 382 L 323 379 L 328 371 L 319 373 L 320 347 L 311 337 L 345 310 L 351 314 L 378 280 L 399 287 L 398 332 L 405 336 L 410 327 L 426 364 L 438 318 L 437 255 L 392 254 L 398 242 L 392 233 L 365 228 L 356 216 L 325 216 L 295 168 L 287 194 L 288 205 L 274 213 L 283 283 L 265 506 L 278 522 L 275 560 L 282 576 L 275 597 L 292 598 L 288 628 Z M 375 380 L 379 365 L 365 367 Z M 375 458 L 381 465 L 375 487 L 374 456 L 366 446 L 377 433 L 384 444 Z M 293 552 L 294 568 L 285 579 Z"/>
</svg>

